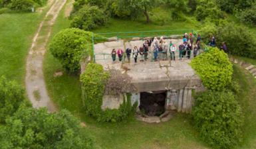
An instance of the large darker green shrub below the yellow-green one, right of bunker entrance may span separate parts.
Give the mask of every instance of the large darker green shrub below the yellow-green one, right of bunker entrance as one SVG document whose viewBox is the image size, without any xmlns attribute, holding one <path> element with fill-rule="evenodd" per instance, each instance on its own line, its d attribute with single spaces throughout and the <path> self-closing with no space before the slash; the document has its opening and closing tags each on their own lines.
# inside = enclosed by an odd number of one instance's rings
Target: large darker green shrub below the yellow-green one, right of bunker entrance
<svg viewBox="0 0 256 149">
<path fill-rule="evenodd" d="M 243 115 L 231 92 L 201 93 L 196 97 L 192 115 L 207 144 L 215 148 L 233 148 L 241 140 Z"/>
</svg>

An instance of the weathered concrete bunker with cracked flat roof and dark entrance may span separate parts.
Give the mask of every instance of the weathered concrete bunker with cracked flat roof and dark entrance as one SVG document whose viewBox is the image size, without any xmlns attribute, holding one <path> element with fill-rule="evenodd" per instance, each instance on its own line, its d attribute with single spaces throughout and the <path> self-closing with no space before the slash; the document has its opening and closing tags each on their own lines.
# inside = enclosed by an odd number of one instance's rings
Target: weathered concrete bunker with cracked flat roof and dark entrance
<svg viewBox="0 0 256 149">
<path fill-rule="evenodd" d="M 167 41 L 170 42 L 170 40 Z M 172 42 L 178 45 L 182 40 L 172 39 Z M 201 91 L 204 89 L 201 79 L 190 66 L 190 60 L 148 61 L 137 64 L 112 62 L 110 53 L 113 48 L 133 48 L 142 43 L 143 40 L 128 42 L 115 40 L 94 44 L 95 62 L 101 64 L 105 70 L 120 70 L 131 77 L 130 84 L 136 89 L 127 90 L 126 93 L 131 94 L 132 104 L 138 103 L 138 111 L 146 115 L 146 117 L 141 118 L 142 121 L 149 123 L 166 121 L 164 118 L 172 111 L 190 113 L 194 102 L 192 90 Z M 176 55 L 178 55 L 178 50 Z M 83 66 L 82 71 L 84 70 Z M 102 109 L 118 109 L 124 100 L 127 100 L 125 94 L 120 95 L 120 97 L 104 95 Z M 148 117 L 156 119 L 148 121 Z"/>
</svg>

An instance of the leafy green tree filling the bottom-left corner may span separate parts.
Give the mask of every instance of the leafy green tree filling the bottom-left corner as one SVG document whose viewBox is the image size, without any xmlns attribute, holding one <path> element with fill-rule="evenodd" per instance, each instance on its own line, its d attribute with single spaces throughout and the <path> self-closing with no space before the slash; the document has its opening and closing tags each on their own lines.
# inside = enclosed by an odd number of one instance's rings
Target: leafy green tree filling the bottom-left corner
<svg viewBox="0 0 256 149">
<path fill-rule="evenodd" d="M 68 111 L 21 108 L 0 130 L 1 148 L 94 148 L 92 138 L 82 134 L 79 121 Z"/>
</svg>

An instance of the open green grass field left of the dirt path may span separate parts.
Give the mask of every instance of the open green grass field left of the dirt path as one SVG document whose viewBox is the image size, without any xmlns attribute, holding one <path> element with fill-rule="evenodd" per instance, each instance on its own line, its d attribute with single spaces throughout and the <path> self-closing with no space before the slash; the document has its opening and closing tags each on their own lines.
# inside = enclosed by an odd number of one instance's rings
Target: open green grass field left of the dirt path
<svg viewBox="0 0 256 149">
<path fill-rule="evenodd" d="M 48 9 L 42 13 L 0 15 L 0 75 L 24 85 L 27 52 Z"/>
</svg>

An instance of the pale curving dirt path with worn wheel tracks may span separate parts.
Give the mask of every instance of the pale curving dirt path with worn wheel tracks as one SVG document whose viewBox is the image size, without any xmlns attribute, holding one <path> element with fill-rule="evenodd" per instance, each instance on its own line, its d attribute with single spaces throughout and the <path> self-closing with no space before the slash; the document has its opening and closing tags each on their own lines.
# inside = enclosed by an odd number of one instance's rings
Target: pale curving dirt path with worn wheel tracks
<svg viewBox="0 0 256 149">
<path fill-rule="evenodd" d="M 57 111 L 57 108 L 47 93 L 43 76 L 43 60 L 53 24 L 65 3 L 66 0 L 56 0 L 51 5 L 33 38 L 33 43 L 27 56 L 25 83 L 29 100 L 33 107 L 47 107 L 50 112 Z"/>
</svg>

